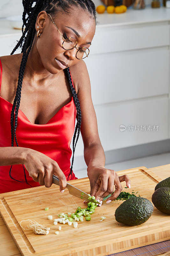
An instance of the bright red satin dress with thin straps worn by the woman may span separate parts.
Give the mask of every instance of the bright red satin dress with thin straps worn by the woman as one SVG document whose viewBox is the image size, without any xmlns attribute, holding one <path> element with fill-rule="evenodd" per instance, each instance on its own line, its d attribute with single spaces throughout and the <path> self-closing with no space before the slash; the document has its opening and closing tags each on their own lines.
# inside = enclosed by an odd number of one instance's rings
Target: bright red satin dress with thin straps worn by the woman
<svg viewBox="0 0 170 256">
<path fill-rule="evenodd" d="M 0 60 L 0 90 L 2 83 L 2 63 Z M 72 80 L 72 77 L 71 77 Z M 72 81 L 73 84 L 73 81 Z M 74 86 L 74 85 L 73 85 Z M 22 97 L 22 96 L 21 96 Z M 11 147 L 11 110 L 12 104 L 0 96 L 0 147 Z M 15 111 L 14 111 L 15 113 Z M 71 139 L 74 135 L 77 109 L 73 97 L 71 101 L 63 106 L 47 124 L 32 124 L 25 114 L 18 110 L 18 124 L 16 137 L 18 146 L 32 148 L 55 160 L 60 169 L 65 174 L 66 179 L 70 173 L 70 158 L 72 150 L 70 148 Z M 17 147 L 14 138 L 14 147 Z M 39 182 L 34 181 L 26 167 L 22 164 L 12 165 L 12 178 L 22 181 L 12 180 L 9 171 L 11 165 L 0 166 L 0 193 L 31 188 L 25 181 L 24 168 L 27 182 L 32 187 L 40 186 Z M 78 179 L 72 172 L 69 180 Z"/>
</svg>

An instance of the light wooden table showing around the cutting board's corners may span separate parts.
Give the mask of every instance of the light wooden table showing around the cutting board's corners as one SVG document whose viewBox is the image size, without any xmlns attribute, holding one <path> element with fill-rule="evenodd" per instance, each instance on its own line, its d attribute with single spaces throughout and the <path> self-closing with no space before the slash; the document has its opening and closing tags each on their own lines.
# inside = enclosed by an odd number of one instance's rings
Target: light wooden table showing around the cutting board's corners
<svg viewBox="0 0 170 256">
<path fill-rule="evenodd" d="M 166 168 L 164 168 L 164 170 L 160 172 L 160 168 L 163 166 Z M 166 169 L 168 170 L 169 168 L 170 168 L 170 164 L 166 164 L 166 165 L 149 168 L 148 170 L 153 172 L 162 180 L 164 180 L 169 176 L 168 172 L 166 171 Z M 119 175 L 119 172 L 117 173 Z M 1 215 L 0 215 L 0 255 L 1 256 L 14 256 L 14 255 L 21 256 L 21 253 L 19 252 L 18 247 L 15 244 L 10 232 L 8 231 L 8 228 L 6 227 Z M 170 253 L 159 254 L 158 256 L 160 255 L 166 256 L 166 255 L 170 255 Z"/>
</svg>

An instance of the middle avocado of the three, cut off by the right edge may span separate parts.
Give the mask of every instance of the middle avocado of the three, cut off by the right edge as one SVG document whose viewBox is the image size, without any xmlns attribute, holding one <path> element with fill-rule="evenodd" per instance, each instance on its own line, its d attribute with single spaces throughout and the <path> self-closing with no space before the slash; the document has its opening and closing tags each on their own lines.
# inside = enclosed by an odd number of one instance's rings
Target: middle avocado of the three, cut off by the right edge
<svg viewBox="0 0 170 256">
<path fill-rule="evenodd" d="M 152 203 L 160 211 L 170 214 L 170 188 L 158 188 L 152 195 Z"/>
</svg>

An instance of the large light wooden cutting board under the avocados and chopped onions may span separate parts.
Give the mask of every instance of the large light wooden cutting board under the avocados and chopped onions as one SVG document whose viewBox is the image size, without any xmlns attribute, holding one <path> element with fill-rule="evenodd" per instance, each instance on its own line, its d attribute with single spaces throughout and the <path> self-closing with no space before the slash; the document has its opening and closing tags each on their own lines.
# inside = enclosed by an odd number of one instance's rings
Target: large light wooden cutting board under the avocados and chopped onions
<svg viewBox="0 0 170 256">
<path fill-rule="evenodd" d="M 118 173 L 119 176 L 123 174 L 129 176 L 131 188 L 125 188 L 126 183 L 123 181 L 122 191 L 139 191 L 141 197 L 152 202 L 154 188 L 161 181 L 158 176 L 152 171 L 148 172 L 144 166 Z M 71 180 L 69 183 L 90 192 L 88 178 Z M 92 214 L 92 220 L 78 222 L 78 228 L 68 224 L 55 226 L 53 220 L 48 220 L 48 215 L 53 215 L 55 219 L 61 212 L 75 212 L 78 206 L 84 208 L 85 205 L 83 200 L 70 195 L 67 189 L 62 194 L 59 187 L 53 184 L 50 188 L 40 186 L 0 194 L 0 213 L 24 256 L 105 256 L 170 239 L 170 216 L 155 207 L 149 220 L 139 226 L 117 222 L 115 210 L 123 202 L 103 202 Z M 49 207 L 49 210 L 44 211 L 45 207 Z M 106 216 L 102 222 L 99 221 L 101 216 Z M 37 235 L 32 230 L 22 229 L 19 222 L 27 219 L 50 227 L 49 234 Z M 59 235 L 55 235 L 59 225 L 62 230 Z"/>
</svg>

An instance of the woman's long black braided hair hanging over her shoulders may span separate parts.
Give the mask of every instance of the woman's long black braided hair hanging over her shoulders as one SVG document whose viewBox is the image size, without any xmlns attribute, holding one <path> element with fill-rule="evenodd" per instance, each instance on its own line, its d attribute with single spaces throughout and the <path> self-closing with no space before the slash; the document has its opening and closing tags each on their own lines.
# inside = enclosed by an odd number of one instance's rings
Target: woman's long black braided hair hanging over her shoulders
<svg viewBox="0 0 170 256">
<path fill-rule="evenodd" d="M 14 99 L 12 110 L 11 110 L 11 147 L 14 146 L 14 137 L 18 147 L 18 142 L 16 138 L 16 128 L 17 128 L 17 120 L 18 120 L 18 109 L 19 109 L 20 99 L 21 99 L 22 81 L 23 81 L 23 76 L 26 68 L 28 55 L 33 44 L 34 36 L 36 35 L 35 23 L 36 23 L 39 12 L 44 10 L 49 14 L 56 14 L 57 12 L 60 12 L 60 11 L 63 11 L 65 13 L 70 13 L 72 6 L 80 7 L 83 10 L 86 10 L 90 14 L 90 17 L 94 19 L 95 23 L 97 24 L 95 5 L 92 2 L 92 0 L 36 0 L 36 1 L 22 0 L 22 4 L 24 6 L 24 11 L 22 15 L 22 20 L 23 20 L 22 36 L 19 39 L 19 41 L 17 41 L 18 43 L 16 44 L 13 51 L 11 52 L 11 55 L 12 55 L 18 49 L 18 47 L 22 48 L 21 53 L 23 52 L 23 56 L 22 56 L 22 60 L 19 68 L 16 95 L 15 95 L 15 99 Z M 26 18 L 26 15 L 27 15 L 27 18 Z M 24 29 L 24 26 L 25 26 L 25 29 Z M 80 103 L 78 100 L 77 93 L 72 85 L 69 67 L 64 69 L 64 73 L 69 81 L 70 90 L 72 92 L 73 100 L 77 109 L 77 116 L 76 116 L 77 124 L 75 128 L 74 136 L 73 136 L 73 157 L 72 157 L 72 164 L 70 168 L 70 174 L 72 178 L 74 152 L 75 152 L 75 147 L 78 141 L 80 126 L 81 126 L 81 109 L 80 109 Z M 15 110 L 15 122 L 14 122 L 14 110 Z M 75 143 L 76 133 L 77 133 L 77 140 Z M 75 146 L 74 146 L 74 143 L 75 143 Z M 12 168 L 12 165 L 11 165 L 11 168 Z M 9 171 L 9 175 L 11 179 L 16 180 L 11 176 L 11 168 Z M 23 165 L 23 168 L 24 168 L 24 165 Z M 30 185 L 26 180 L 25 169 L 24 169 L 24 175 L 25 175 L 26 183 Z M 69 176 L 68 176 L 68 179 L 69 179 Z M 16 181 L 22 182 L 19 180 L 16 180 Z"/>
</svg>

